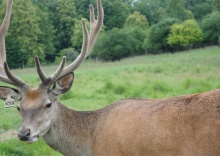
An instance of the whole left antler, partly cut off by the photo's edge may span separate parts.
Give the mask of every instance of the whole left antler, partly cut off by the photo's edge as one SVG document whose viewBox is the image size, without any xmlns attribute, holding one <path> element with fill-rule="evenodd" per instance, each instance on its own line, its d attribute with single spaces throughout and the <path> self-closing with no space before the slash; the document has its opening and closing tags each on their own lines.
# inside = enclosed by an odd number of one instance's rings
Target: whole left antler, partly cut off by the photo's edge
<svg viewBox="0 0 220 156">
<path fill-rule="evenodd" d="M 7 2 L 7 8 L 6 8 L 6 14 L 4 17 L 4 20 L 2 22 L 2 25 L 0 27 L 0 80 L 9 83 L 12 85 L 15 85 L 17 87 L 23 87 L 25 84 L 24 81 L 19 79 L 18 77 L 14 76 L 6 62 L 6 49 L 5 49 L 5 35 L 8 31 L 8 27 L 10 24 L 11 19 L 11 12 L 12 12 L 12 3 L 13 0 L 8 0 Z"/>
</svg>

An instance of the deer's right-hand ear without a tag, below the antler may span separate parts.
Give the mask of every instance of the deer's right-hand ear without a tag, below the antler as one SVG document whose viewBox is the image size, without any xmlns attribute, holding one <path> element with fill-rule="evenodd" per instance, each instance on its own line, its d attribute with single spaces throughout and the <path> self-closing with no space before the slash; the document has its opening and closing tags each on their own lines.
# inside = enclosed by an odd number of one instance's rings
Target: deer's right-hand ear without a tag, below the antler
<svg viewBox="0 0 220 156">
<path fill-rule="evenodd" d="M 62 76 L 60 79 L 56 81 L 56 83 L 53 86 L 53 93 L 55 95 L 60 95 L 68 92 L 70 88 L 72 87 L 74 79 L 74 73 L 69 73 L 67 75 Z"/>
</svg>

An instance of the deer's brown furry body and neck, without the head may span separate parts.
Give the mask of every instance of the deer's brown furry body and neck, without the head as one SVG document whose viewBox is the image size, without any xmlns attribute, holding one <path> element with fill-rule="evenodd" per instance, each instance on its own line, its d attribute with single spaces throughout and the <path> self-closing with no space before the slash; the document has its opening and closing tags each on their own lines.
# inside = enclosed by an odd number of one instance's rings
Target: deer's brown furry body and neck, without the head
<svg viewBox="0 0 220 156">
<path fill-rule="evenodd" d="M 167 99 L 125 99 L 93 112 L 57 104 L 44 136 L 64 155 L 220 155 L 220 90 Z"/>
</svg>

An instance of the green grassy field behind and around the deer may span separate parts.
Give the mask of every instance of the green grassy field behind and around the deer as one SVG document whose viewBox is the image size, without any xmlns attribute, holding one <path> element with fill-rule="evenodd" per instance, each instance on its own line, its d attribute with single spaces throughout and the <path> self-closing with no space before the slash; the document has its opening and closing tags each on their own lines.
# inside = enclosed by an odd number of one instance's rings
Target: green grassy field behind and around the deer
<svg viewBox="0 0 220 156">
<path fill-rule="evenodd" d="M 50 74 L 56 66 L 44 67 Z M 35 69 L 13 70 L 27 83 L 37 86 Z M 100 109 L 128 97 L 166 98 L 220 88 L 220 48 L 175 54 L 145 55 L 120 62 L 85 61 L 75 72 L 72 89 L 59 100 L 75 110 Z M 17 130 L 21 117 L 16 108 L 0 105 L 0 136 Z M 0 138 L 1 139 L 1 138 Z M 2 139 L 3 140 L 3 139 Z M 0 155 L 60 155 L 41 139 L 26 144 L 16 138 L 0 140 Z"/>
</svg>

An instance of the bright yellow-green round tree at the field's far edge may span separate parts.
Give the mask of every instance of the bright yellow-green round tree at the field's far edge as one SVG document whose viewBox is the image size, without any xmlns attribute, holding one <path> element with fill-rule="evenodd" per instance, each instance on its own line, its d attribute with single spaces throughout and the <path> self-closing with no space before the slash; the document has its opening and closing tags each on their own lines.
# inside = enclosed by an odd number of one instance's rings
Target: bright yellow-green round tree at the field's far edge
<svg viewBox="0 0 220 156">
<path fill-rule="evenodd" d="M 172 47 L 186 47 L 201 42 L 203 33 L 195 20 L 186 20 L 171 27 L 167 40 Z"/>
</svg>

